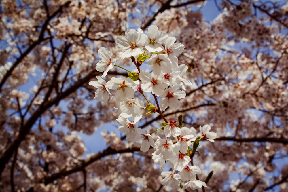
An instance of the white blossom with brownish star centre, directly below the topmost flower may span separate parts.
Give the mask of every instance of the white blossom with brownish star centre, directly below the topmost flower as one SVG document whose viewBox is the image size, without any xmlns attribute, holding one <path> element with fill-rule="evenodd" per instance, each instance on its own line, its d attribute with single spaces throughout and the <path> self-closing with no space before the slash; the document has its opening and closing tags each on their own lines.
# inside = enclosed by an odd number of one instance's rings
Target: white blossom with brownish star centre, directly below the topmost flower
<svg viewBox="0 0 288 192">
<path fill-rule="evenodd" d="M 148 65 L 153 69 L 155 75 L 172 72 L 172 63 L 166 54 L 153 54 L 148 60 Z"/>
</svg>

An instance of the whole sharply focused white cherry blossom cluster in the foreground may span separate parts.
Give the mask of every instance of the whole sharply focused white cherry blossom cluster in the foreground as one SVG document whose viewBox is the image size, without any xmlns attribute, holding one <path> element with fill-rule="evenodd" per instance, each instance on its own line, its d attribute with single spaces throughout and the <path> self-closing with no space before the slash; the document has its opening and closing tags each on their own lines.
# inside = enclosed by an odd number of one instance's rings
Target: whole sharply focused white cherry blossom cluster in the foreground
<svg viewBox="0 0 288 192">
<path fill-rule="evenodd" d="M 95 92 L 97 100 L 103 104 L 109 102 L 110 106 L 118 109 L 120 113 L 116 119 L 120 123 L 118 130 L 126 134 L 127 141 L 141 142 L 140 150 L 143 152 L 153 147 L 155 151 L 152 158 L 162 170 L 166 161 L 169 162 L 168 165 L 173 171 L 162 172 L 163 185 L 179 188 L 182 180 L 187 181 L 182 185 L 183 189 L 187 187 L 199 189 L 202 186 L 206 187 L 206 183 L 196 179 L 196 174 L 201 174 L 201 170 L 193 165 L 192 157 L 196 153 L 200 140 L 206 139 L 214 142 L 217 134 L 210 132 L 209 125 L 200 126 L 202 137 L 197 139 L 196 129 L 182 127 L 181 115 L 178 123 L 172 120 L 169 123 L 162 114 L 162 111 L 168 107 L 172 110 L 180 109 L 179 99 L 186 96 L 185 85 L 192 85 L 185 77 L 188 67 L 185 64 L 178 64 L 177 56 L 183 52 L 184 45 L 175 41 L 175 37 L 169 37 L 166 32 L 159 31 L 154 25 L 148 28 L 147 35 L 141 29 L 128 29 L 124 37 L 116 38 L 116 44 L 123 49 L 119 53 L 119 58 L 131 58 L 138 72 L 125 69 L 129 72 L 128 77 L 112 77 L 106 82 L 103 78 L 107 76 L 110 69 L 114 66 L 124 68 L 116 64 L 117 60 L 111 49 L 101 47 L 98 51 L 101 60 L 96 64 L 96 70 L 103 72 L 103 75 L 97 76 L 97 81 L 91 81 L 89 85 L 97 88 Z M 140 69 L 145 60 L 152 69 L 151 72 Z M 135 98 L 134 92 L 136 91 L 143 95 L 147 104 Z M 111 93 L 115 95 L 112 96 Z M 155 99 L 153 103 L 156 103 L 157 107 L 147 100 L 145 93 L 153 95 Z M 151 133 L 145 133 L 142 128 L 138 127 L 137 122 L 146 115 L 142 114 L 142 109 L 147 110 L 146 114 L 158 112 L 165 121 L 162 127 Z M 165 138 L 157 136 L 158 138 L 154 141 L 151 134 L 160 130 L 164 130 Z M 176 142 L 173 143 L 173 140 Z"/>
</svg>

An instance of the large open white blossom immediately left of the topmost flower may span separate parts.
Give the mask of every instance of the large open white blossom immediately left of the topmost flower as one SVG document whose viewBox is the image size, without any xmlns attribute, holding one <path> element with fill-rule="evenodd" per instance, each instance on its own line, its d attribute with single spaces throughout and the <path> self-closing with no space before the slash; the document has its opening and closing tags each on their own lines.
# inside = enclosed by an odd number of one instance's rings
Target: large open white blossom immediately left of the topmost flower
<svg viewBox="0 0 288 192">
<path fill-rule="evenodd" d="M 121 59 L 131 56 L 136 57 L 144 51 L 142 47 L 145 44 L 143 34 L 135 29 L 128 29 L 125 32 L 125 36 L 117 37 L 115 42 L 118 47 L 123 49 L 122 52 L 119 53 Z"/>
</svg>

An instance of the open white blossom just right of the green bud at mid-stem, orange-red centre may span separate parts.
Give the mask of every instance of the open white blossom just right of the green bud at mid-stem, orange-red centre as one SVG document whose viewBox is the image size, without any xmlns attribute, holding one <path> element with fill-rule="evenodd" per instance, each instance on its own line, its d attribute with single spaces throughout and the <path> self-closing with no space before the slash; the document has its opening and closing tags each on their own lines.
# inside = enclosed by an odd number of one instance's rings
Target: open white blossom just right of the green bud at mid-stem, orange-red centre
<svg viewBox="0 0 288 192">
<path fill-rule="evenodd" d="M 156 96 L 160 96 L 163 94 L 164 89 L 168 87 L 166 83 L 161 81 L 161 77 L 154 75 L 152 72 L 149 73 L 147 71 L 140 71 L 139 79 L 141 80 L 141 88 L 144 92 L 152 92 Z"/>
</svg>

